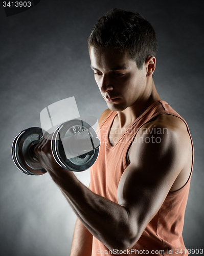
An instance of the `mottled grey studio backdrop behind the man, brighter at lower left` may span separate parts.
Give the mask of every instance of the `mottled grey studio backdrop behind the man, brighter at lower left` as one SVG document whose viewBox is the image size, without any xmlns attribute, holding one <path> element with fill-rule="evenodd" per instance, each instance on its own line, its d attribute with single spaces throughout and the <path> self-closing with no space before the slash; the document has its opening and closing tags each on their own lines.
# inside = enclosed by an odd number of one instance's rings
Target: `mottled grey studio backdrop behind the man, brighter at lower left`
<svg viewBox="0 0 204 256">
<path fill-rule="evenodd" d="M 79 113 L 106 109 L 90 70 L 87 37 L 111 8 L 138 11 L 158 35 L 154 81 L 158 93 L 189 124 L 195 163 L 183 237 L 187 248 L 203 240 L 203 1 L 41 0 L 6 17 L 0 7 L 1 179 L 0 253 L 69 255 L 76 217 L 48 174 L 22 174 L 11 158 L 14 137 L 40 126 L 46 106 L 75 96 Z M 88 170 L 79 179 L 89 183 Z"/>
</svg>

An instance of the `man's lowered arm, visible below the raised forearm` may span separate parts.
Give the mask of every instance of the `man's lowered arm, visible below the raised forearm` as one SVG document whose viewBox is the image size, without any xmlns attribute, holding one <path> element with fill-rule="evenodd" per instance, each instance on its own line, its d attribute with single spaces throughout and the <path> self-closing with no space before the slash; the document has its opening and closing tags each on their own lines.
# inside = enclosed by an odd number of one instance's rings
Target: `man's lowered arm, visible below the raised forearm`
<svg viewBox="0 0 204 256">
<path fill-rule="evenodd" d="M 92 240 L 93 235 L 84 227 L 81 221 L 77 219 L 70 256 L 92 255 Z"/>
</svg>

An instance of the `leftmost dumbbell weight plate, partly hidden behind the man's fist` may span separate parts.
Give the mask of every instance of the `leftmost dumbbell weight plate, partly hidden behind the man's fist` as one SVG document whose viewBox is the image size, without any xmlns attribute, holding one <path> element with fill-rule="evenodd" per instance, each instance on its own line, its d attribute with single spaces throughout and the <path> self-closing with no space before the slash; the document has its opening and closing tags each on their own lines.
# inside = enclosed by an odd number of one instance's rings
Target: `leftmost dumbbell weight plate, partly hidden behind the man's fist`
<svg viewBox="0 0 204 256">
<path fill-rule="evenodd" d="M 46 132 L 44 131 L 44 134 Z M 15 165 L 21 172 L 28 175 L 41 175 L 47 173 L 39 164 L 37 158 L 33 155 L 33 148 L 43 138 L 42 129 L 39 127 L 31 127 L 20 132 L 14 139 L 11 155 Z"/>
</svg>

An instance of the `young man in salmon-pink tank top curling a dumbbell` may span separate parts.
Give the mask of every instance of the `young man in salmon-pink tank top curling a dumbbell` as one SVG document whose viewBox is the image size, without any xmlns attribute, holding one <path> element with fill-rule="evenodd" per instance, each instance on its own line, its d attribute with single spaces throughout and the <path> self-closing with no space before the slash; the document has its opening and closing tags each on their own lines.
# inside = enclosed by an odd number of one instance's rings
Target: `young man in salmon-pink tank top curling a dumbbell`
<svg viewBox="0 0 204 256">
<path fill-rule="evenodd" d="M 188 255 L 182 230 L 193 144 L 184 119 L 155 89 L 155 32 L 140 14 L 114 9 L 94 26 L 88 49 L 108 106 L 89 188 L 57 165 L 51 135 L 36 148 L 78 216 L 71 256 Z"/>
</svg>

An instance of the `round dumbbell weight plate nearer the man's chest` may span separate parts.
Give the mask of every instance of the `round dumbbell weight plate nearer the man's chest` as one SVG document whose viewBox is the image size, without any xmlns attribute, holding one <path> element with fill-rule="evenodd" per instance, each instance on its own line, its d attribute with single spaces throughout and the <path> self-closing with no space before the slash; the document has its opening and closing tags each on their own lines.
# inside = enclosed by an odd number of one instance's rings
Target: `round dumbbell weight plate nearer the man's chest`
<svg viewBox="0 0 204 256">
<path fill-rule="evenodd" d="M 92 144 L 94 141 L 92 150 L 82 150 L 83 154 L 72 158 L 67 158 L 64 151 L 64 146 L 62 144 L 62 139 L 66 137 L 70 138 L 73 135 L 80 136 L 81 132 L 86 132 L 86 135 L 89 135 L 88 137 Z M 80 143 L 82 144 L 82 140 L 83 139 L 78 140 L 79 145 Z M 73 170 L 75 172 L 86 170 L 95 163 L 99 154 L 99 145 L 100 141 L 93 127 L 85 121 L 77 119 L 61 124 L 54 132 L 51 142 L 52 153 L 56 162 L 63 168 Z M 76 145 L 74 146 L 76 147 Z"/>
</svg>

